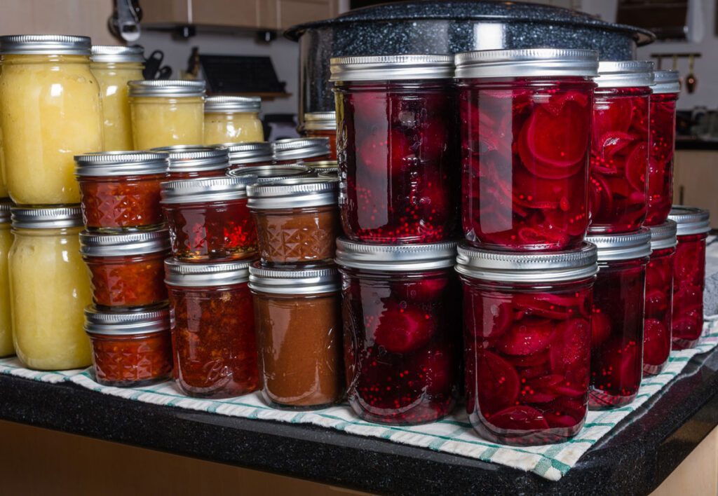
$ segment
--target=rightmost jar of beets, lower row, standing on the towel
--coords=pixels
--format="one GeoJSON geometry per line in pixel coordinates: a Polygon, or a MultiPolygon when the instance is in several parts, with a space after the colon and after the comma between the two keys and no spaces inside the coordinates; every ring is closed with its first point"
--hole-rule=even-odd
{"type": "Polygon", "coordinates": [[[673,205],[668,218],[678,224],[673,257],[673,350],[692,348],[703,332],[708,210],[673,205]]]}

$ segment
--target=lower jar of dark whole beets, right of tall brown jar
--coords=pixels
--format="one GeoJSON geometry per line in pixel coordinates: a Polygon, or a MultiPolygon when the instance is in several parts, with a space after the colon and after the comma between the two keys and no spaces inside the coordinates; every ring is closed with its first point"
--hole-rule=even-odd
{"type": "Polygon", "coordinates": [[[423,424],[459,393],[461,312],[456,243],[337,240],[347,397],[361,418],[423,424]]]}

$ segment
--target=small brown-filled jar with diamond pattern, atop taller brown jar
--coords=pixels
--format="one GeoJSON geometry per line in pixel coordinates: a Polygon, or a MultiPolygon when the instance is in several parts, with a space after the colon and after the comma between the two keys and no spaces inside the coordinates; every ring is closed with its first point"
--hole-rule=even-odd
{"type": "Polygon", "coordinates": [[[302,177],[247,187],[265,263],[317,263],[334,258],[340,235],[337,179],[302,177]]]}

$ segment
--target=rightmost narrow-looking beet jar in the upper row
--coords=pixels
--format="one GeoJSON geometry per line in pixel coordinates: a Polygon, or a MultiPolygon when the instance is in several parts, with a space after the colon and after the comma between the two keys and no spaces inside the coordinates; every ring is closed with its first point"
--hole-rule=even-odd
{"type": "Polygon", "coordinates": [[[645,225],[666,222],[673,203],[673,154],[676,151],[676,100],[681,85],[676,70],[653,72],[651,139],[648,142],[648,212],[645,225]]]}

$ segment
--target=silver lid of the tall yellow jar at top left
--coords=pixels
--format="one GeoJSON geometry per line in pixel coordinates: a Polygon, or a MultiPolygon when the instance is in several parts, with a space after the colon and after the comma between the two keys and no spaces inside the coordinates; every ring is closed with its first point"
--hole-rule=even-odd
{"type": "Polygon", "coordinates": [[[0,37],[1,55],[90,55],[86,36],[65,34],[14,34],[0,37]]]}

